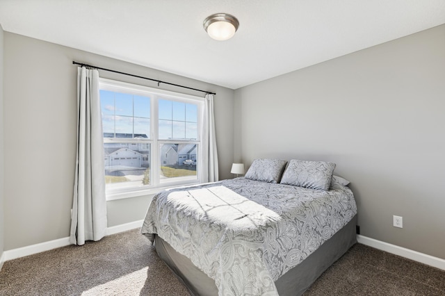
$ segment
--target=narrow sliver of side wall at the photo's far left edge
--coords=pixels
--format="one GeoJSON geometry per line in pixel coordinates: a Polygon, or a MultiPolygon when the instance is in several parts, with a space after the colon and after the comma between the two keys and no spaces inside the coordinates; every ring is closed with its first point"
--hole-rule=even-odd
{"type": "Polygon", "coordinates": [[[4,249],[4,175],[3,175],[3,28],[0,24],[0,258],[4,249]]]}

